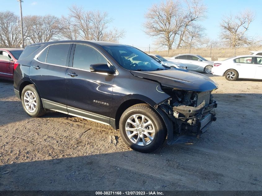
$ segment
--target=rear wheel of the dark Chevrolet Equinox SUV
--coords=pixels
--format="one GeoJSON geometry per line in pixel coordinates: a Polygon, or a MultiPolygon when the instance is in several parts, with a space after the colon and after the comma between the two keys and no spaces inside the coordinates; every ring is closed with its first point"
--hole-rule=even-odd
{"type": "Polygon", "coordinates": [[[39,117],[45,114],[42,99],[34,85],[27,85],[22,90],[21,101],[24,111],[31,117],[39,117]]]}

